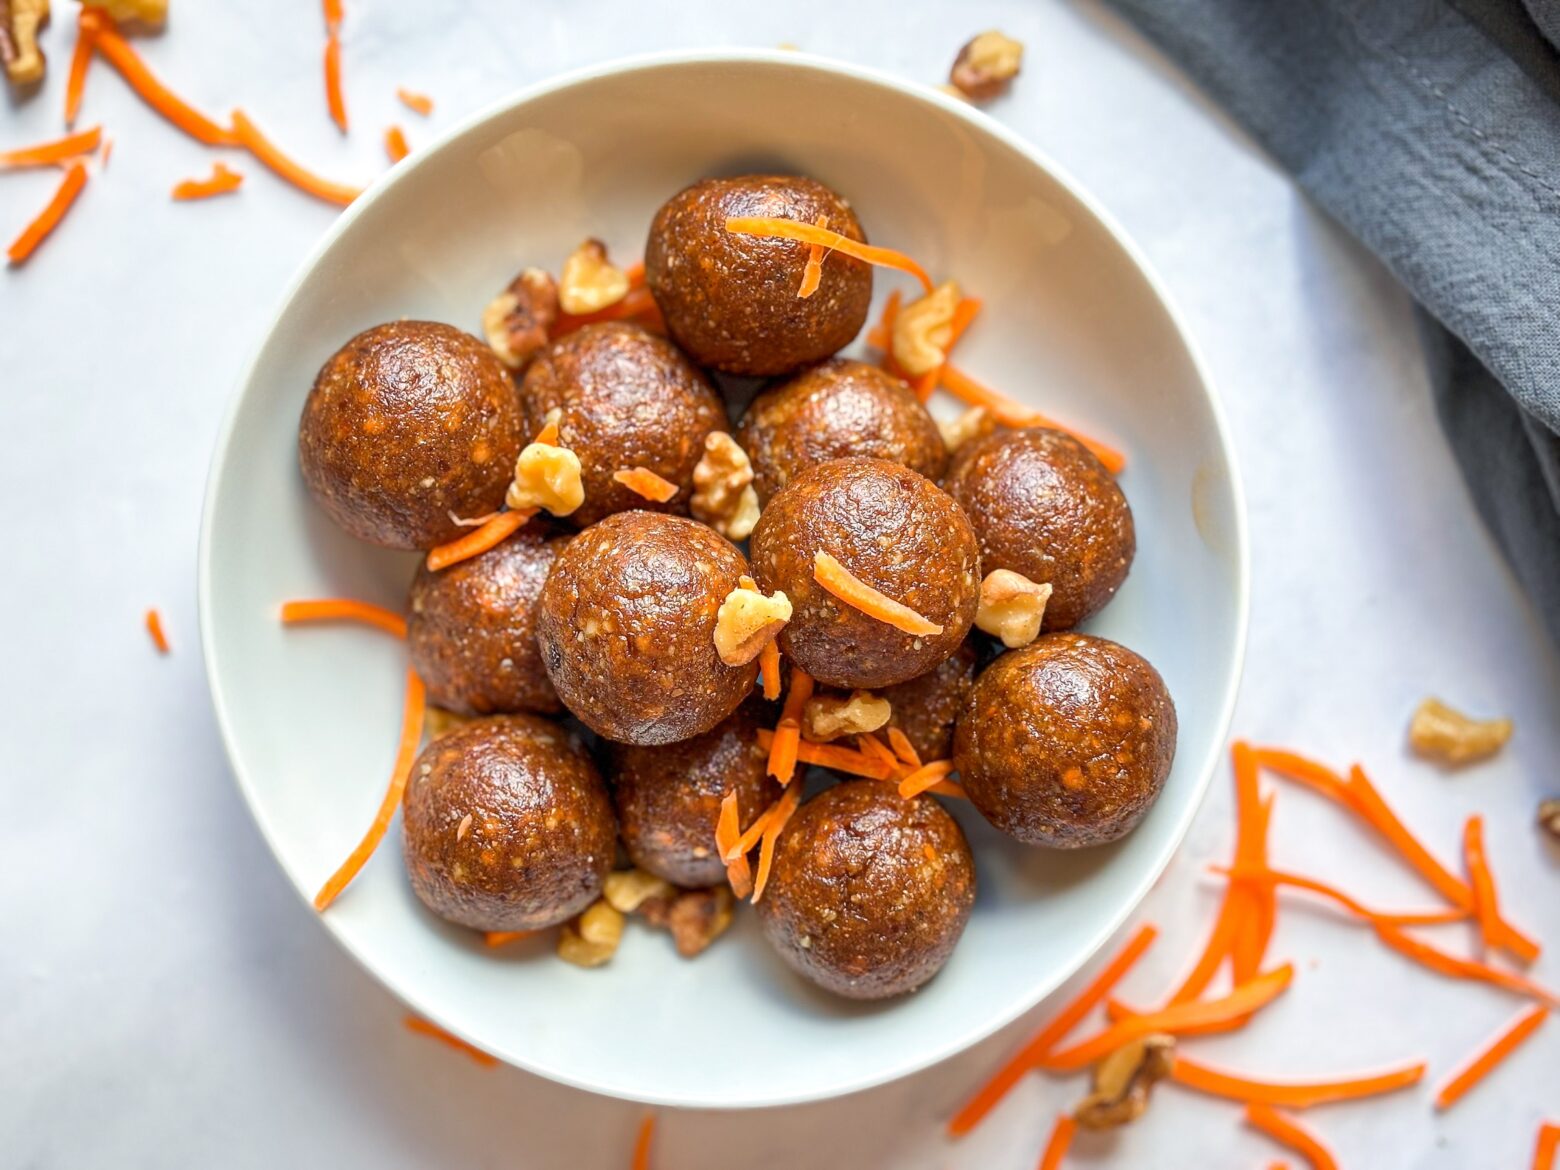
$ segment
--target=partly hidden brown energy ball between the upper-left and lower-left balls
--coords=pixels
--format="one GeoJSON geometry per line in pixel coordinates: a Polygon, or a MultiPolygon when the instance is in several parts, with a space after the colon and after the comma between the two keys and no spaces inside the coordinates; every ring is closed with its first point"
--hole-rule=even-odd
{"type": "Polygon", "coordinates": [[[563,710],[537,646],[537,604],[568,543],[534,521],[448,569],[418,566],[406,638],[431,704],[457,714],[563,710]]]}

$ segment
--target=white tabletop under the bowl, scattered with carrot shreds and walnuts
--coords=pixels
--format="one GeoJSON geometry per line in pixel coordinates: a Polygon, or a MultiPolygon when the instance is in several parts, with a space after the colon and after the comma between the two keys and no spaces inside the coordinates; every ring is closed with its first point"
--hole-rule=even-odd
{"type": "MultiPolygon", "coordinates": [[[[378,170],[392,119],[417,145],[518,84],[630,51],[796,42],[938,81],[975,30],[1023,39],[1028,73],[992,114],[1044,142],[1139,239],[1223,388],[1254,538],[1237,732],[1362,758],[1448,860],[1462,817],[1482,810],[1513,914],[1560,939],[1560,858],[1532,828],[1538,797],[1560,789],[1560,669],[1437,431],[1410,306],[1114,17],[1025,0],[761,11],[349,0],[356,129],[342,142],[323,114],[317,5],[173,8],[175,28],[145,44],[168,81],[215,112],[242,101],[343,178],[378,170]],[[396,84],[434,94],[434,119],[401,111],[396,84]],[[1513,714],[1510,749],[1454,777],[1407,760],[1404,719],[1426,691],[1513,714]]],[[[47,41],[48,89],[0,120],[5,145],[58,133],[66,23],[47,41]]],[[[197,647],[200,491],[239,365],[334,212],[254,167],[237,198],[175,206],[167,189],[204,173],[209,156],[108,70],[89,84],[86,122],[97,120],[117,140],[112,167],[30,267],[0,275],[0,490],[14,562],[0,636],[12,744],[0,786],[0,1162],[626,1165],[636,1106],[484,1070],[402,1031],[399,1006],[310,922],[253,830],[197,647]],[[170,626],[165,660],[140,629],[153,604],[170,626]]],[[[0,176],[0,236],[51,184],[0,176]]],[[[1129,994],[1156,994],[1200,945],[1215,900],[1200,874],[1229,836],[1220,778],[1143,908],[1165,939],[1129,994]]],[[[1379,903],[1424,902],[1307,794],[1281,791],[1275,852],[1379,903]]],[[[1516,1008],[1409,967],[1310,908],[1284,914],[1273,955],[1296,961],[1295,987],[1259,1025],[1200,1053],[1296,1076],[1423,1056],[1435,1080],[1516,1008]]],[[[1540,973],[1560,983],[1560,963],[1546,956],[1540,973]]],[[[1033,1165],[1075,1086],[1025,1083],[956,1147],[941,1123],[1034,1019],[860,1097],[668,1115],[657,1165],[727,1165],[735,1150],[753,1167],[1033,1165]]],[[[1526,1165],[1540,1117],[1560,1115],[1555,1028],[1446,1117],[1421,1089],[1309,1120],[1345,1165],[1526,1165]]],[[[739,1031],[733,1022],[738,1059],[761,1061],[741,1051],[739,1031]]],[[[1262,1165],[1275,1154],[1232,1106],[1170,1090],[1129,1131],[1081,1140],[1069,1164],[1262,1165]]]]}

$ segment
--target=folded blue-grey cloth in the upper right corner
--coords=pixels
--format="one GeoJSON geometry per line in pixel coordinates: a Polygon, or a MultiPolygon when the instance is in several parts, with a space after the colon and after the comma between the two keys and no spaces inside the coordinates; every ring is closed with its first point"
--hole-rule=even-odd
{"type": "Polygon", "coordinates": [[[1560,0],[1106,0],[1424,309],[1441,429],[1560,643],[1560,0]]]}

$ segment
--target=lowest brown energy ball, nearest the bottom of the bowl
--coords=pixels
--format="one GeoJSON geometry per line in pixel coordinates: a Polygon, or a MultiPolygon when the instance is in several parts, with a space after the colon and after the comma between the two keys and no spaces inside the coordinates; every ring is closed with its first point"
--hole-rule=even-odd
{"type": "Polygon", "coordinates": [[[973,905],[975,860],[942,805],[849,780],[803,803],[780,833],[758,920],[799,975],[880,1000],[941,970],[973,905]]]}

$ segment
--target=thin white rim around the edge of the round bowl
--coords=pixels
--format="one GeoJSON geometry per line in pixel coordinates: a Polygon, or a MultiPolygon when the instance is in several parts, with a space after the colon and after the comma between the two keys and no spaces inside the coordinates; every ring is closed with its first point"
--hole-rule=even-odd
{"type": "MultiPolygon", "coordinates": [[[[1215,713],[1215,732],[1214,746],[1209,749],[1206,757],[1197,761],[1197,778],[1190,799],[1181,810],[1179,821],[1173,827],[1172,833],[1165,838],[1165,846],[1162,847],[1159,856],[1154,858],[1153,864],[1143,872],[1142,880],[1137,888],[1131,892],[1128,899],[1123,899],[1120,908],[1111,914],[1108,919],[1101,920],[1098,928],[1094,931],[1090,939],[1080,948],[1075,961],[1062,964],[1058,973],[1050,975],[1044,980],[1037,980],[1034,987],[1023,997],[1019,997],[1012,1003],[1006,1005],[1002,1011],[994,1012],[984,1020],[980,1020],[972,1028],[967,1028],[956,1037],[944,1042],[938,1047],[927,1048],[917,1053],[913,1059],[902,1061],[899,1065],[872,1072],[867,1075],[856,1076],[853,1080],[844,1080],[839,1083],[824,1084],[817,1089],[808,1089],[803,1092],[789,1092],[775,1097],[764,1097],[757,1100],[741,1100],[741,1101],[725,1101],[725,1100],[710,1100],[710,1098],[693,1098],[679,1095],[657,1095],[655,1092],[633,1094],[612,1083],[591,1081],[558,1069],[548,1067],[540,1062],[534,1062],[524,1056],[524,1053],[498,1051],[495,1053],[507,1064],[518,1069],[524,1069],[529,1073],[543,1076],[549,1081],[558,1084],[566,1084],[574,1089],[582,1089],[585,1092],[619,1098],[632,1100],[643,1104],[666,1106],[666,1108],[688,1108],[688,1109],[768,1109],[792,1104],[807,1104],[813,1101],[833,1100],[836,1097],[846,1097],[850,1094],[864,1092],[867,1089],[875,1089],[883,1084],[902,1080],[913,1073],[930,1069],[931,1065],[941,1064],[942,1061],[956,1056],[958,1053],[972,1048],[981,1041],[994,1036],[1002,1028],[1017,1020],[1020,1016],[1034,1009],[1045,998],[1053,995],[1067,980],[1073,978],[1081,972],[1111,941],[1111,938],[1122,928],[1122,925],[1139,909],[1143,899],[1153,889],[1154,883],[1161,878],[1165,867],[1170,864],[1172,858],[1181,849],[1187,831],[1190,830],[1192,819],[1197,816],[1207,796],[1209,785],[1212,783],[1214,772],[1217,771],[1218,760],[1223,757],[1223,744],[1228,739],[1229,727],[1234,718],[1236,699],[1240,691],[1240,680],[1245,669],[1246,657],[1246,641],[1248,641],[1248,626],[1250,626],[1250,593],[1251,593],[1251,548],[1248,534],[1248,516],[1246,516],[1246,498],[1242,487],[1240,466],[1236,460],[1236,448],[1231,438],[1229,421],[1225,415],[1223,402],[1209,374],[1207,362],[1203,357],[1195,337],[1186,326],[1186,318],[1181,309],[1176,306],[1175,298],[1170,295],[1164,279],[1150,264],[1148,257],[1133,240],[1131,236],[1122,228],[1115,217],[1094,197],[1089,190],[1076,179],[1073,175],[1058,164],[1047,151],[1041,147],[1028,142],[1025,137],[1002,125],[995,119],[989,117],[983,111],[961,101],[947,94],[939,92],[936,87],[894,75],[888,70],[858,66],[853,62],[836,61],[833,58],[825,58],[813,53],[785,50],[785,48],[743,48],[743,47],[714,47],[714,48],[674,48],[660,50],[652,53],[636,53],[630,56],[613,58],[591,66],[583,66],[563,73],[557,73],[543,81],[524,86],[513,90],[512,94],[498,98],[487,106],[482,106],[476,112],[459,120],[443,134],[440,134],[432,144],[423,150],[413,153],[404,162],[396,164],[381,175],[373,184],[370,184],[362,195],[359,195],[351,206],[348,206],[324,231],[314,248],[304,256],[303,262],[295,268],[292,279],[284,287],[282,293],[275,303],[270,318],[265,321],[264,328],[259,331],[257,340],[254,342],[248,359],[239,374],[234,390],[231,392],[229,402],[226,406],[222,426],[217,432],[215,445],[212,448],[211,465],[206,476],[206,488],[201,502],[201,523],[200,523],[200,544],[197,551],[197,608],[200,616],[200,638],[201,638],[201,661],[206,671],[206,690],[211,696],[212,708],[217,716],[217,729],[222,736],[223,752],[228,758],[228,766],[232,771],[234,780],[239,786],[239,792],[243,797],[245,807],[250,813],[251,821],[261,833],[265,847],[271,852],[273,860],[289,877],[289,885],[292,885],[293,892],[298,899],[309,908],[309,917],[314,919],[334,941],[340,945],[357,964],[368,973],[379,986],[385,987],[392,995],[395,995],[407,1008],[415,1009],[418,1014],[437,1023],[440,1028],[446,1028],[460,1039],[482,1047],[482,1041],[476,1036],[463,1033],[459,1028],[451,1026],[448,1020],[440,1019],[437,1011],[429,1011],[424,1005],[413,1000],[406,994],[398,984],[396,978],[390,972],[379,970],[371,964],[337,928],[334,928],[326,916],[314,913],[309,892],[298,885],[296,880],[287,872],[287,866],[281,864],[281,850],[278,842],[273,839],[265,819],[259,814],[259,794],[254,782],[245,774],[243,768],[239,764],[239,757],[236,750],[236,736],[232,730],[232,718],[228,710],[225,693],[217,682],[215,671],[215,604],[212,593],[212,541],[215,535],[215,499],[218,495],[220,484],[223,480],[229,452],[232,451],[232,438],[237,429],[239,415],[242,413],[243,402],[250,395],[250,388],[254,381],[256,368],[264,357],[268,346],[270,337],[276,329],[278,321],[287,310],[287,306],[298,295],[298,290],[310,278],[314,270],[318,267],[321,257],[335,245],[335,242],[356,223],[357,217],[365,214],[367,209],[385,192],[392,190],[398,183],[401,183],[413,170],[431,164],[438,154],[449,148],[456,140],[476,133],[480,126],[488,122],[510,114],[512,111],[526,106],[538,98],[548,97],[551,94],[569,89],[573,86],[596,81],[605,76],[619,73],[633,73],[657,69],[675,69],[682,66],[704,66],[704,64],[761,64],[761,66],[780,66],[796,69],[797,72],[822,72],[846,76],[852,81],[866,83],[877,86],[880,89],[892,90],[894,94],[909,98],[911,101],[922,101],[961,119],[969,125],[970,129],[991,136],[997,139],[1002,145],[1016,151],[1017,154],[1028,159],[1034,167],[1045,172],[1055,183],[1062,186],[1072,198],[1075,198],[1111,236],[1115,245],[1123,251],[1123,254],[1131,261],[1134,268],[1140,273],[1142,279],[1147,282],[1150,292],[1159,301],[1165,315],[1170,318],[1170,324],[1175,328],[1176,335],[1186,346],[1187,356],[1192,362],[1192,368],[1203,387],[1203,395],[1207,399],[1209,413],[1214,420],[1214,432],[1218,440],[1218,449],[1229,470],[1229,498],[1232,507],[1234,521],[1234,549],[1232,560],[1236,568],[1234,582],[1234,605],[1236,605],[1236,638],[1231,651],[1229,671],[1225,679],[1223,694],[1217,704],[1215,713]]],[[[488,1048],[484,1048],[488,1051],[488,1048]]]]}

